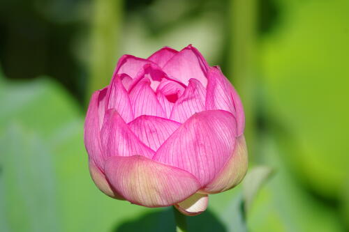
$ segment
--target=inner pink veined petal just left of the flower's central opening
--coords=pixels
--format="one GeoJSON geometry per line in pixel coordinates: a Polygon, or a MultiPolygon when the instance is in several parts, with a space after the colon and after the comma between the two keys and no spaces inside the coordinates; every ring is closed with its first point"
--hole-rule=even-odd
{"type": "Polygon", "coordinates": [[[130,92],[131,105],[135,118],[141,115],[166,117],[156,95],[150,87],[149,79],[142,79],[130,92]]]}

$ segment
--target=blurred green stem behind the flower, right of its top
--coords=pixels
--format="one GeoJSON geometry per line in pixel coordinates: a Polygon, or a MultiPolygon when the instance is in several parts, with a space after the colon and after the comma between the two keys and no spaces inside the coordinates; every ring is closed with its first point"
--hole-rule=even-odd
{"type": "Polygon", "coordinates": [[[255,160],[255,102],[258,86],[256,75],[256,34],[258,1],[230,0],[230,70],[232,84],[242,98],[246,116],[245,137],[248,143],[248,160],[255,160]]]}

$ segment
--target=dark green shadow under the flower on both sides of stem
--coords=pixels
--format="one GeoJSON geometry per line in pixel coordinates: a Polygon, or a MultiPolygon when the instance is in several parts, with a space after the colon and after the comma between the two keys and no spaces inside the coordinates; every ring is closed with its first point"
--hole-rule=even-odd
{"type": "MultiPolygon", "coordinates": [[[[225,226],[217,219],[217,217],[206,210],[201,215],[186,217],[188,223],[188,231],[216,231],[225,232],[225,226]]],[[[175,231],[174,214],[172,208],[166,210],[150,212],[138,217],[135,220],[126,221],[116,226],[114,232],[128,231],[175,231]]]]}

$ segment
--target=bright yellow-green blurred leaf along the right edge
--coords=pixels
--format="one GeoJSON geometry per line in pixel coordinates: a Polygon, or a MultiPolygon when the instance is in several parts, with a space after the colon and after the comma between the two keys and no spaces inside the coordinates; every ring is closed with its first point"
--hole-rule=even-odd
{"type": "Polygon", "coordinates": [[[349,2],[279,4],[282,23],[260,53],[269,123],[304,183],[336,198],[349,170],[349,2]]]}

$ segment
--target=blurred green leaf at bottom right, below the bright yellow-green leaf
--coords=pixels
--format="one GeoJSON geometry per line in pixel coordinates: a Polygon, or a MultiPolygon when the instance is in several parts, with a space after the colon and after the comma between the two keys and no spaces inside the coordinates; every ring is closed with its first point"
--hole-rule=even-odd
{"type": "Polygon", "coordinates": [[[274,138],[265,136],[262,144],[264,162],[273,167],[274,174],[248,211],[249,231],[343,231],[336,210],[314,199],[295,180],[274,138]]]}

